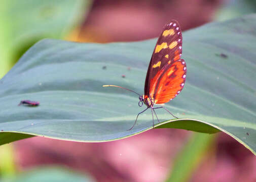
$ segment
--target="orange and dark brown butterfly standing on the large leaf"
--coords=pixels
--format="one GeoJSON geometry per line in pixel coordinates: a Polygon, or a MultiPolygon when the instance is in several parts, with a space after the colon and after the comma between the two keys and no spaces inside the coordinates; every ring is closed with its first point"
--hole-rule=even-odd
{"type": "MultiPolygon", "coordinates": [[[[128,130],[131,130],[138,119],[138,116],[151,109],[154,127],[154,114],[157,114],[155,109],[163,108],[168,113],[174,116],[164,106],[153,107],[154,104],[164,104],[175,98],[184,87],[187,74],[186,62],[181,59],[182,54],[182,34],[180,26],[176,20],[171,20],[163,28],[160,37],[157,40],[154,52],[151,57],[147,76],[145,78],[144,94],[140,95],[131,89],[117,85],[102,85],[120,87],[130,92],[139,95],[139,107],[143,103],[147,106],[146,109],[137,114],[134,124],[128,130]]],[[[159,119],[157,117],[159,122],[159,119]]]]}

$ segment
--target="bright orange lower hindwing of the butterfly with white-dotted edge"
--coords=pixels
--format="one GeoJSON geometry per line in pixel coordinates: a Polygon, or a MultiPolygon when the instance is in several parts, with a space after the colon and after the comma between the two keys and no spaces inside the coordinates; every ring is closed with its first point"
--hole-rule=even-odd
{"type": "Polygon", "coordinates": [[[184,87],[187,66],[183,59],[166,64],[152,79],[150,97],[155,104],[163,104],[175,98],[184,87]]]}

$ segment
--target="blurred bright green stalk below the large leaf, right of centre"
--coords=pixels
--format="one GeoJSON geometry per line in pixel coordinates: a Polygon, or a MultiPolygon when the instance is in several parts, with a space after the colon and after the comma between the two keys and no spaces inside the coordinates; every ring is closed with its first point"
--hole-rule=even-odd
{"type": "Polygon", "coordinates": [[[194,133],[188,144],[177,155],[170,176],[166,181],[185,182],[197,170],[203,156],[209,150],[215,135],[194,133]]]}

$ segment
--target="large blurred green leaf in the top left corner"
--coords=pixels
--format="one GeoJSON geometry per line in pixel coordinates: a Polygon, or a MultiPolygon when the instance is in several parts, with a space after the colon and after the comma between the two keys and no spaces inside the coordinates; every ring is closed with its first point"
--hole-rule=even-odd
{"type": "Polygon", "coordinates": [[[1,1],[0,77],[32,44],[45,38],[63,38],[74,29],[91,1],[1,1]]]}

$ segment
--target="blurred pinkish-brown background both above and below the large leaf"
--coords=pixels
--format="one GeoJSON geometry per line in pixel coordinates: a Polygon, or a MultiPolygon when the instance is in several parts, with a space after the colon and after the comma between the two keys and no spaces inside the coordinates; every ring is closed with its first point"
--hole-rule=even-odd
{"type": "MultiPolygon", "coordinates": [[[[171,19],[182,31],[213,20],[224,0],[97,0],[81,27],[66,38],[81,42],[134,41],[159,36],[171,19]]],[[[136,113],[134,113],[135,117],[136,113]]],[[[115,142],[77,143],[34,137],[15,142],[20,170],[63,164],[97,181],[164,181],[192,132],[152,129],[115,142]]],[[[191,181],[256,181],[256,158],[230,136],[217,134],[191,181]]]]}

